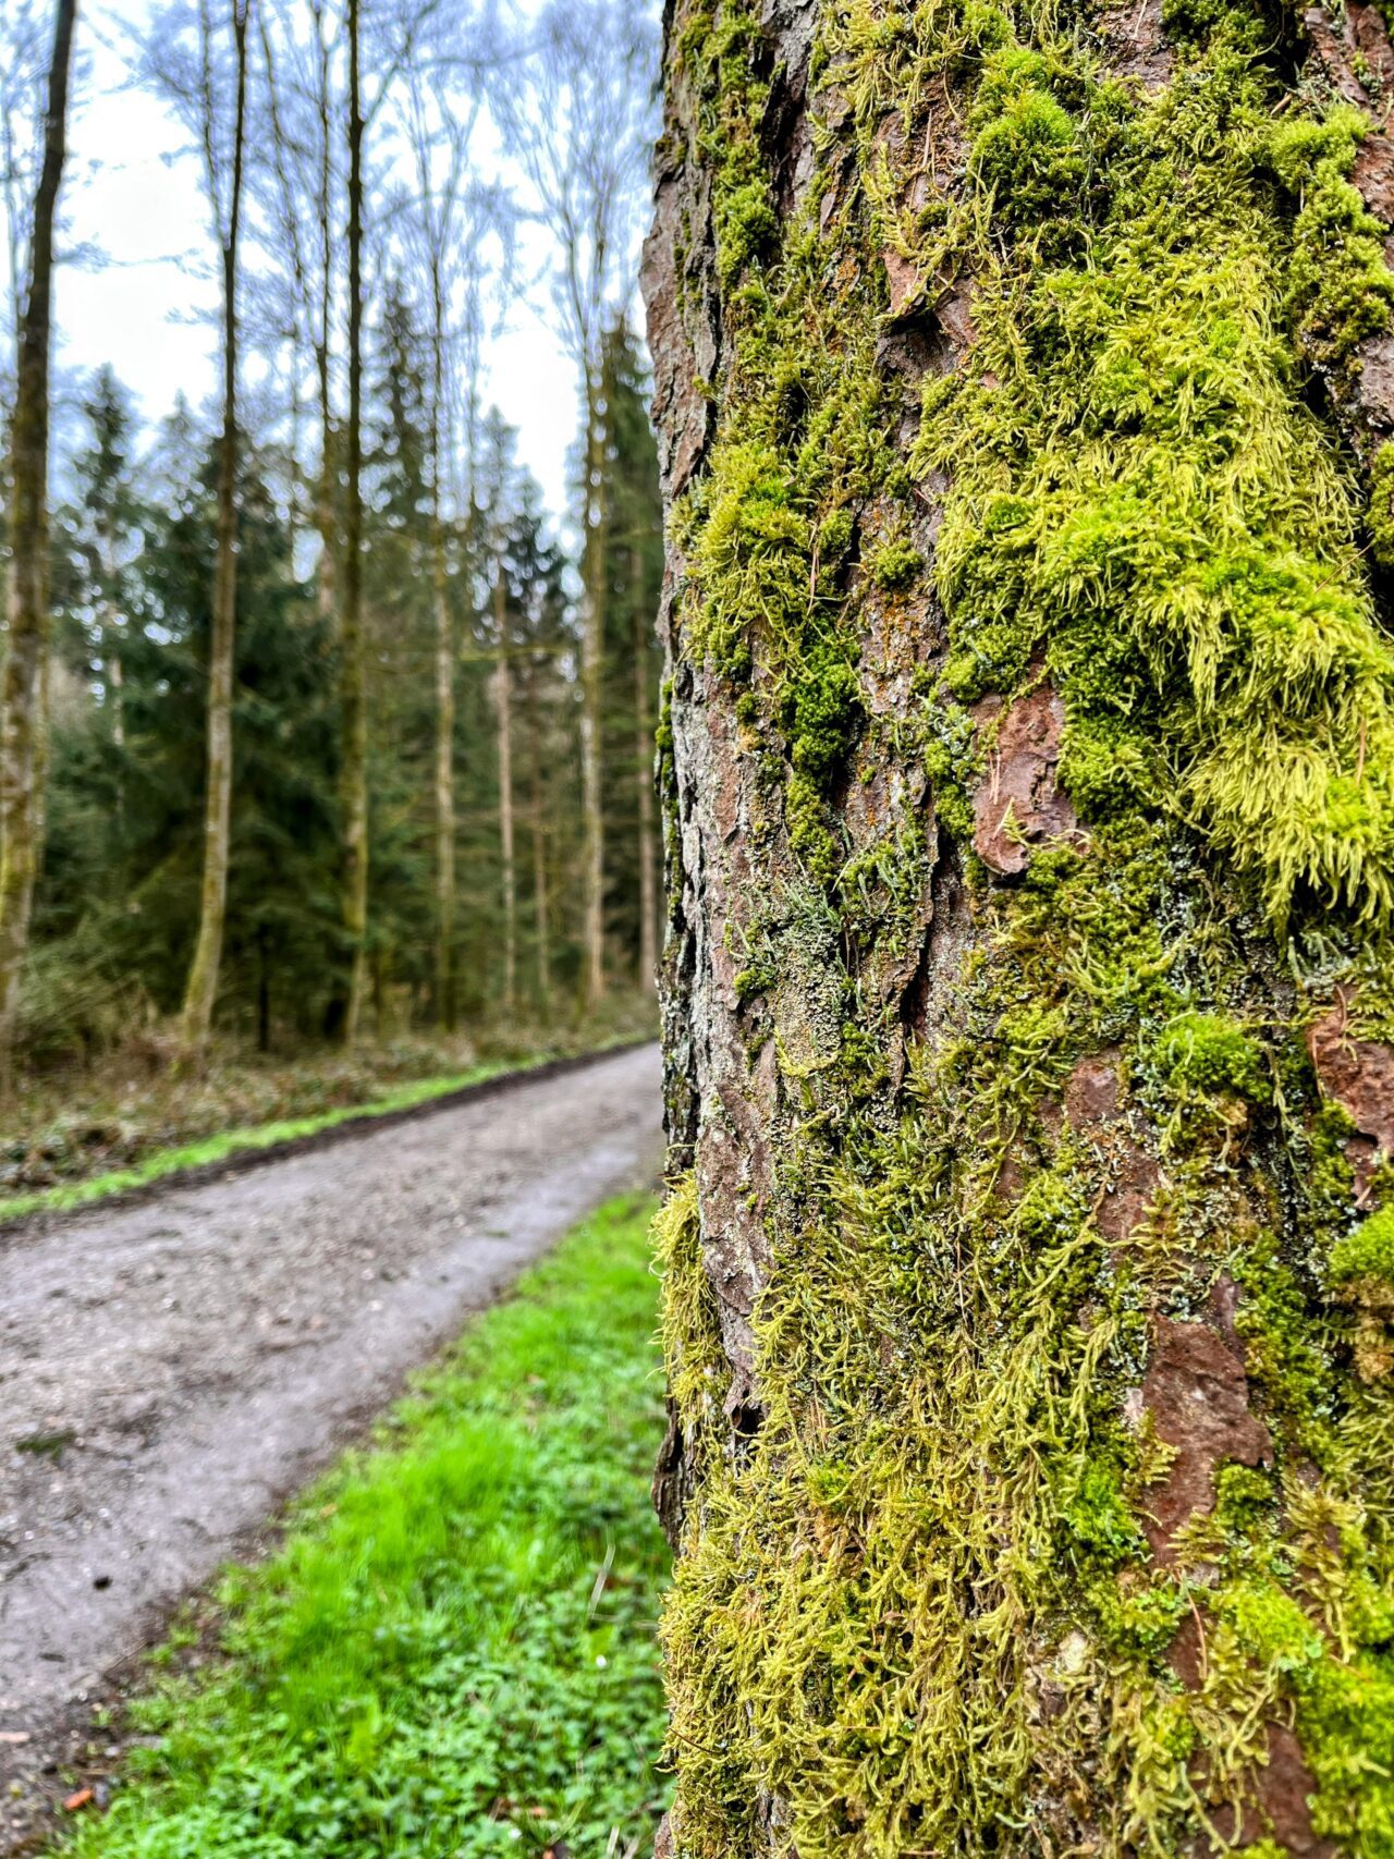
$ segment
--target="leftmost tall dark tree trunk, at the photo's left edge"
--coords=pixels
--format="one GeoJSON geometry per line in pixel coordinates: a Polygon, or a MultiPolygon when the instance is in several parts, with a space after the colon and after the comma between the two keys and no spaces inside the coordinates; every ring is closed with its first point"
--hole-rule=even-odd
{"type": "Polygon", "coordinates": [[[15,1078],[15,1015],[30,944],[37,868],[43,716],[48,651],[48,346],[54,288],[54,214],[63,180],[69,67],[76,0],[58,0],[48,67],[43,167],[30,234],[30,292],[19,323],[9,455],[9,639],[0,721],[0,1097],[15,1078]]]}

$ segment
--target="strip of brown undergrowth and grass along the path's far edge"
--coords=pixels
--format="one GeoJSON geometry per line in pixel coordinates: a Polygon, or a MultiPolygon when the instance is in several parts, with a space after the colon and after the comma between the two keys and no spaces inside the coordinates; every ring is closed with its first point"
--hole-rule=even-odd
{"type": "Polygon", "coordinates": [[[130,1041],[87,1069],[20,1080],[0,1117],[0,1220],[85,1199],[80,1184],[112,1173],[154,1179],[201,1167],[364,1106],[405,1108],[515,1065],[656,1032],[651,995],[615,993],[589,1015],[558,1008],[548,1019],[524,1013],[454,1035],[403,1034],[351,1052],[264,1056],[223,1041],[201,1075],[178,1071],[154,1039],[130,1041]]]}

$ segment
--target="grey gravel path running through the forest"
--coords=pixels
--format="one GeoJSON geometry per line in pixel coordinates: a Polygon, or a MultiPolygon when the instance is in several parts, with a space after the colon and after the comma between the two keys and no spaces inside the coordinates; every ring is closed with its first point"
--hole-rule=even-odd
{"type": "Polygon", "coordinates": [[[0,1796],[409,1368],[656,1179],[660,1108],[641,1047],[0,1234],[0,1796]]]}

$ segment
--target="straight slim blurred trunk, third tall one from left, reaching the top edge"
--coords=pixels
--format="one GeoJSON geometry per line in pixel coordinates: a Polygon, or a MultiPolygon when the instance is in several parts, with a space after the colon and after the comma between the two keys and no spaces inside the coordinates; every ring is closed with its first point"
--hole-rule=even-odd
{"type": "Polygon", "coordinates": [[[359,0],[348,4],[349,48],[349,411],[344,494],[342,716],[344,716],[344,937],[349,996],[344,1041],[359,1037],[368,989],[368,690],[362,634],[362,91],[359,0]]]}

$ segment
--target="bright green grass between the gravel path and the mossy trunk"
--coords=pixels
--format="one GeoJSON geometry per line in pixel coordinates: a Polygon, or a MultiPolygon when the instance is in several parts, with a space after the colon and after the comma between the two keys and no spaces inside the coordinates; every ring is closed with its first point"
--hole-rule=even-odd
{"type": "Polygon", "coordinates": [[[647,1853],[665,1783],[652,1205],[602,1208],[232,1571],[82,1859],[647,1853]]]}

